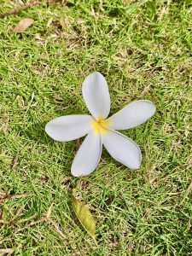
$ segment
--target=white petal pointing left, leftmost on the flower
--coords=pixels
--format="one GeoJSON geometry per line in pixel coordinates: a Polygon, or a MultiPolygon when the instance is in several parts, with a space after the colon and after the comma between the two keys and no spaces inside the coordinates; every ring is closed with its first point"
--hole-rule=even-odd
{"type": "Polygon", "coordinates": [[[92,117],[85,114],[73,114],[49,121],[45,131],[58,142],[67,142],[83,137],[91,130],[92,117]]]}

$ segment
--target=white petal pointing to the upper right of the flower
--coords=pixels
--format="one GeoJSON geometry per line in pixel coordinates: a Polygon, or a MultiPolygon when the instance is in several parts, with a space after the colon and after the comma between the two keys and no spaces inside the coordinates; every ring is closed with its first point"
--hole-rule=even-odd
{"type": "Polygon", "coordinates": [[[109,128],[125,130],[143,124],[155,112],[154,103],[149,101],[131,102],[119,112],[114,113],[110,120],[109,128]]]}

